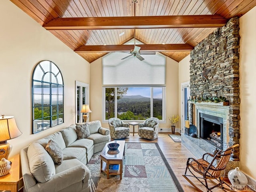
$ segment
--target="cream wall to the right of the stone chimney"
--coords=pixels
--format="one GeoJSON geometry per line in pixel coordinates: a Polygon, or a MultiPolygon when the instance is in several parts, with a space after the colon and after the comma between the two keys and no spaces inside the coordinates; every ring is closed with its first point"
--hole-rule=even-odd
{"type": "Polygon", "coordinates": [[[256,180],[256,7],[239,22],[240,169],[256,180]]]}

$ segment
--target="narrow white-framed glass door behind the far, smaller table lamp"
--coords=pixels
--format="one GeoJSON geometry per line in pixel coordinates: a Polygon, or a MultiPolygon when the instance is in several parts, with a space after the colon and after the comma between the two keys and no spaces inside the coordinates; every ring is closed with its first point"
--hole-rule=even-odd
{"type": "Polygon", "coordinates": [[[76,122],[83,122],[82,106],[89,103],[89,85],[76,81],[76,122]]]}

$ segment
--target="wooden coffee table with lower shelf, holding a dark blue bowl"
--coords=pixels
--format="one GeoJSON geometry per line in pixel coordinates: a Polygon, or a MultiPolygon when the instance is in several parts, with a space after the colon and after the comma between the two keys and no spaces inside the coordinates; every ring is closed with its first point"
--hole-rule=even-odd
{"type": "Polygon", "coordinates": [[[123,159],[124,159],[124,145],[125,141],[112,141],[106,143],[104,149],[100,153],[100,172],[104,172],[107,174],[107,179],[109,179],[109,175],[120,175],[120,179],[122,179],[123,172],[123,159]],[[111,151],[108,149],[109,143],[118,143],[118,150],[111,151]],[[110,164],[118,164],[118,171],[110,171],[110,164]]]}

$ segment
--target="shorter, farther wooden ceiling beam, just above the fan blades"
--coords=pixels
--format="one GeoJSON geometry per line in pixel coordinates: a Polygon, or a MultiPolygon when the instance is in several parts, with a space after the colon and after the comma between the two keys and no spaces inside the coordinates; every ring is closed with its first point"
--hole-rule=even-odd
{"type": "MultiPolygon", "coordinates": [[[[193,46],[189,44],[139,44],[141,51],[191,51],[193,46]]],[[[134,45],[83,45],[78,49],[74,50],[76,53],[86,53],[86,52],[129,52],[134,49],[134,45]]]]}

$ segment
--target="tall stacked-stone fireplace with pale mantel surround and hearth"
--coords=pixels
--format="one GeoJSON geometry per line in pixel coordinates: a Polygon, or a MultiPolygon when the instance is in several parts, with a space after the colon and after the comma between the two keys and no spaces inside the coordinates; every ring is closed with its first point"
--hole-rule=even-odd
{"type": "MultiPolygon", "coordinates": [[[[197,158],[239,144],[239,39],[239,20],[232,18],[190,53],[189,120],[197,138],[182,134],[182,144],[197,158]],[[213,97],[224,97],[228,105],[206,102],[213,97]]],[[[239,148],[230,158],[234,166],[239,166],[239,148]]]]}

